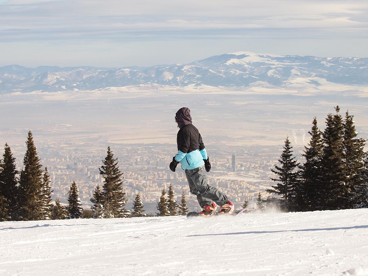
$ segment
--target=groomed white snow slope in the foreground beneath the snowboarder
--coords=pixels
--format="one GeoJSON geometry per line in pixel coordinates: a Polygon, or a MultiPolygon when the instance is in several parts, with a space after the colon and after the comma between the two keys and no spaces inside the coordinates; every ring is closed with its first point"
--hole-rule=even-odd
{"type": "Polygon", "coordinates": [[[0,223],[0,275],[368,275],[368,209],[0,223]]]}

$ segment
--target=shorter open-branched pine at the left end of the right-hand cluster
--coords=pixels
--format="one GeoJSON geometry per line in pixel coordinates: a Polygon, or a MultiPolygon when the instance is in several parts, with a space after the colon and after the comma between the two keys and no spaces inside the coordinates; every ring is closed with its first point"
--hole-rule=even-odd
{"type": "Polygon", "coordinates": [[[277,182],[273,189],[268,189],[266,192],[277,194],[281,197],[280,205],[283,209],[293,210],[295,206],[294,192],[298,184],[298,171],[296,168],[299,163],[293,156],[293,147],[290,145],[289,137],[286,137],[284,150],[279,159],[280,166],[275,165],[275,170],[271,171],[276,174],[277,178],[270,178],[277,182]]]}

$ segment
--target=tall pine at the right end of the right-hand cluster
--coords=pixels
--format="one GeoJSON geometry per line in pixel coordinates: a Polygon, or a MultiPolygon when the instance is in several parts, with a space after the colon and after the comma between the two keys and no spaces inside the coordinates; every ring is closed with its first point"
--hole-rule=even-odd
{"type": "Polygon", "coordinates": [[[362,171],[364,169],[365,139],[357,138],[354,116],[346,112],[344,120],[344,174],[346,187],[346,204],[344,208],[360,205],[361,186],[364,185],[362,171]]]}

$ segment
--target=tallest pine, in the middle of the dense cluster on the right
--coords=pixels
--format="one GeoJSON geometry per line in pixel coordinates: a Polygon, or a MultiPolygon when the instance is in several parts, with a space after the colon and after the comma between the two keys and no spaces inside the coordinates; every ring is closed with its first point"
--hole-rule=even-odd
{"type": "Polygon", "coordinates": [[[328,114],[326,128],[322,134],[323,154],[321,172],[323,187],[321,195],[321,209],[343,209],[348,201],[348,190],[345,185],[344,165],[344,125],[339,114],[340,107],[335,107],[336,114],[328,114]]]}

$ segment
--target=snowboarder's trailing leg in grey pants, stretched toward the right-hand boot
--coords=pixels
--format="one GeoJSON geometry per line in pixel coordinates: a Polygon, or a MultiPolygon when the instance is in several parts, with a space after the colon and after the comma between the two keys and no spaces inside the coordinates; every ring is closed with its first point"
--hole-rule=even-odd
{"type": "Polygon", "coordinates": [[[208,184],[204,166],[194,170],[185,170],[185,174],[187,174],[188,182],[193,183],[202,198],[214,201],[219,206],[226,204],[227,196],[208,184]]]}

